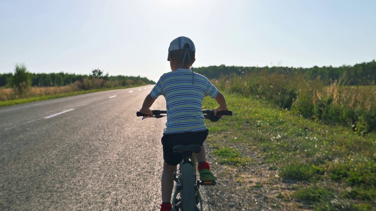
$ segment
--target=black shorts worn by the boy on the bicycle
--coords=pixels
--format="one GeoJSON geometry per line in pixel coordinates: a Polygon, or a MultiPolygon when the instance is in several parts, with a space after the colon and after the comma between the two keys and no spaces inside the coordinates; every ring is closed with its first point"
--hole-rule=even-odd
{"type": "Polygon", "coordinates": [[[197,132],[164,134],[162,137],[163,160],[170,166],[176,166],[183,160],[183,157],[180,154],[174,154],[172,148],[176,145],[197,144],[202,146],[208,134],[208,129],[197,132]]]}

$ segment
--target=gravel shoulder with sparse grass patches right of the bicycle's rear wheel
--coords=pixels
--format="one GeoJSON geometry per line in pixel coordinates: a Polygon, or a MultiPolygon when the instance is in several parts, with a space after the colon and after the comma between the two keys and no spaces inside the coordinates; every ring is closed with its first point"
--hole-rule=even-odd
{"type": "MultiPolygon", "coordinates": [[[[208,139],[211,138],[214,139],[208,139]]],[[[221,145],[230,144],[226,141],[215,142],[221,145]]],[[[215,150],[209,144],[206,149],[209,153],[215,150]]],[[[215,155],[208,157],[218,178],[217,185],[206,188],[211,208],[215,211],[308,211],[294,203],[291,198],[285,197],[296,190],[299,184],[279,179],[276,170],[270,165],[261,164],[261,158],[251,150],[248,156],[252,158],[252,164],[247,166],[220,164],[215,155]]]]}

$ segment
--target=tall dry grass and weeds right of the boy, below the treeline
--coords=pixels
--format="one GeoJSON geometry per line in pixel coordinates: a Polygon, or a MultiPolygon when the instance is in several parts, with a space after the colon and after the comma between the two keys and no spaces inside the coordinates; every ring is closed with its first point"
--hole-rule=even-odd
{"type": "Polygon", "coordinates": [[[267,72],[222,76],[213,83],[227,92],[254,96],[325,124],[352,127],[364,135],[376,130],[376,86],[344,86],[346,81],[310,80],[303,74],[267,72]]]}

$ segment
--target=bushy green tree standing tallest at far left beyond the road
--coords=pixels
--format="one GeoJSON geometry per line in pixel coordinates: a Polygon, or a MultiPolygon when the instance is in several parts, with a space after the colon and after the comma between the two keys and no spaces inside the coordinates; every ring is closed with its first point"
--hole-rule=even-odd
{"type": "Polygon", "coordinates": [[[25,65],[16,65],[14,75],[11,78],[11,85],[18,90],[18,92],[27,92],[31,84],[29,72],[25,65]]]}

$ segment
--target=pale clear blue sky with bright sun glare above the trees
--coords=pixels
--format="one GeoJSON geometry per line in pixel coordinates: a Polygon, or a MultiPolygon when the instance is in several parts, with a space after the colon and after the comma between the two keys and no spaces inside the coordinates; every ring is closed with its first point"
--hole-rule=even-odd
{"type": "Polygon", "coordinates": [[[376,59],[376,0],[0,0],[0,72],[170,71],[178,36],[193,67],[354,65],[376,59]]]}

